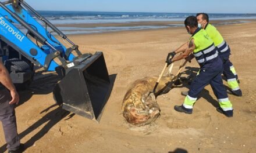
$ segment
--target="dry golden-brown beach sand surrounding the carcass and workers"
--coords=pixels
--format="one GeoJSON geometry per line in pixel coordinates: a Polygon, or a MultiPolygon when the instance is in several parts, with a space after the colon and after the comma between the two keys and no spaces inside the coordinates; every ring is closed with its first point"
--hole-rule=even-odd
{"type": "MultiPolygon", "coordinates": [[[[210,86],[200,94],[192,115],[173,110],[183,103],[183,88],[159,96],[161,116],[155,125],[129,126],[121,114],[131,82],[162,71],[168,52],[189,39],[184,28],[72,35],[84,53],[101,50],[115,84],[99,123],[58,108],[51,90],[56,74],[37,74],[29,91],[20,92],[18,132],[26,152],[256,152],[256,22],[218,26],[232,49],[243,97],[229,95],[233,118],[216,111],[210,86]]],[[[177,71],[175,63],[173,72],[177,71]]],[[[187,67],[197,69],[193,61],[187,67]]],[[[187,69],[186,69],[187,70],[187,69]]],[[[225,82],[226,84],[226,82],[225,82]]],[[[5,140],[0,129],[0,152],[5,140]]]]}

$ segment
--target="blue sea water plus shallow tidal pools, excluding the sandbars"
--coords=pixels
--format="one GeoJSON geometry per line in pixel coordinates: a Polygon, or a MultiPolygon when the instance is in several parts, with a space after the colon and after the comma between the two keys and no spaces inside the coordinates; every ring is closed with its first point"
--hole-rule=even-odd
{"type": "MultiPolygon", "coordinates": [[[[136,13],[136,12],[74,12],[74,11],[38,11],[53,24],[73,24],[72,27],[58,27],[65,34],[91,34],[99,32],[113,32],[124,30],[145,30],[168,27],[183,27],[183,24],[169,25],[131,25],[125,27],[76,27],[76,24],[101,23],[132,23],[140,21],[184,21],[186,17],[195,13],[136,13]]],[[[35,18],[35,17],[34,17],[35,18]]],[[[210,20],[225,20],[219,24],[235,24],[247,21],[228,21],[234,19],[256,19],[256,14],[211,14],[210,20]]],[[[70,25],[69,25],[70,26],[70,25]]]]}

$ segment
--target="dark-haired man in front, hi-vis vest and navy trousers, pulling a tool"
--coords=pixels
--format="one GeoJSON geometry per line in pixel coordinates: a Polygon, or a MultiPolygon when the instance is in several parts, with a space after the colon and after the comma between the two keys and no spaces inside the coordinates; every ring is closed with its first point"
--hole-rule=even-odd
{"type": "Polygon", "coordinates": [[[179,55],[177,54],[175,56],[175,53],[173,52],[168,53],[166,62],[170,64],[181,59],[190,60],[194,56],[200,65],[200,72],[191,83],[189,93],[186,96],[184,103],[182,105],[175,105],[175,110],[186,114],[192,114],[193,105],[197,100],[198,94],[205,86],[210,84],[219,101],[217,111],[227,117],[232,117],[232,103],[227,97],[227,92],[223,86],[221,77],[223,72],[223,62],[218,55],[217,48],[214,46],[214,41],[212,41],[205,30],[198,28],[198,22],[195,16],[187,17],[184,24],[189,34],[192,35],[189,40],[189,46],[179,55]]]}

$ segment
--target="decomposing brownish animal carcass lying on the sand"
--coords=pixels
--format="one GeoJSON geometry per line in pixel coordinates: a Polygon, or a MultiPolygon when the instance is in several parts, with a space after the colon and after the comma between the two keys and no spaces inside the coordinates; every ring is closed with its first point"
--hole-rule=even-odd
{"type": "Polygon", "coordinates": [[[155,86],[158,77],[145,77],[135,81],[125,94],[122,112],[126,121],[132,125],[142,126],[155,121],[159,116],[159,105],[155,96],[170,90],[168,83],[172,77],[162,77],[155,94],[148,95],[155,86]]]}

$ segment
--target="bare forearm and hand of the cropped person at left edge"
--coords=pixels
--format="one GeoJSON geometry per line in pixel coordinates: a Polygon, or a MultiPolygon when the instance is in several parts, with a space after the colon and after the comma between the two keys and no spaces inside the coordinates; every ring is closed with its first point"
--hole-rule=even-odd
{"type": "Polygon", "coordinates": [[[12,96],[12,100],[10,100],[9,104],[18,104],[19,94],[17,93],[15,86],[10,79],[9,72],[6,70],[5,65],[3,65],[2,61],[0,61],[0,82],[8,90],[10,90],[10,96],[12,96]]]}

